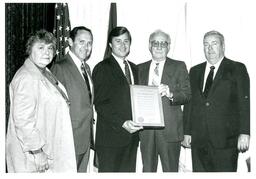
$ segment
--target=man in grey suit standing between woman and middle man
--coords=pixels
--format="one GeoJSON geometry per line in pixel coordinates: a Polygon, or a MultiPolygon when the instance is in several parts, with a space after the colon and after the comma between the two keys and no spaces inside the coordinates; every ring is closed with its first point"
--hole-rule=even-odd
{"type": "Polygon", "coordinates": [[[77,171],[86,172],[93,121],[93,84],[90,67],[86,63],[92,51],[92,32],[83,26],[75,27],[70,32],[68,42],[70,51],[51,70],[67,90],[71,103],[77,171]]]}

